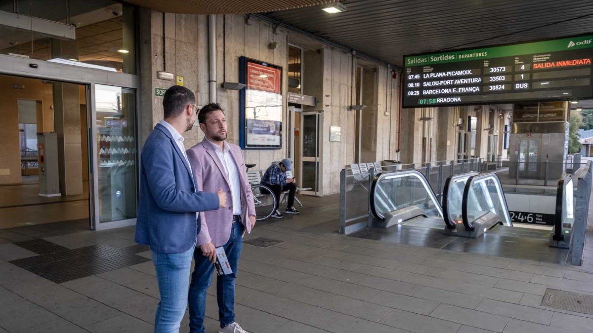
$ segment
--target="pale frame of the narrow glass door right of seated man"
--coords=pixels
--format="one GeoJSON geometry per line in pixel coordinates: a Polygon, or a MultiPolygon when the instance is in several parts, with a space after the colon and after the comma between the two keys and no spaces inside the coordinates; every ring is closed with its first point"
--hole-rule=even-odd
{"type": "MultiPolygon", "coordinates": [[[[299,163],[301,165],[299,165],[299,180],[302,181],[302,162],[315,162],[317,165],[317,168],[315,168],[315,183],[317,184],[317,191],[315,191],[315,188],[308,190],[308,191],[301,191],[301,194],[307,194],[310,196],[323,196],[323,172],[321,172],[323,170],[323,159],[321,158],[323,156],[323,111],[304,111],[301,112],[300,114],[301,117],[301,124],[299,126],[299,143],[301,146],[301,149],[299,151],[299,163]],[[302,139],[304,137],[304,131],[303,131],[303,126],[304,126],[304,121],[302,119],[303,116],[312,116],[315,115],[315,119],[317,120],[316,124],[317,124],[317,140],[315,141],[315,145],[316,145],[316,149],[315,151],[317,151],[317,156],[315,157],[305,157],[302,156],[302,152],[304,151],[303,149],[303,145],[302,145],[302,139]]],[[[302,184],[302,182],[301,182],[302,184]]]]}

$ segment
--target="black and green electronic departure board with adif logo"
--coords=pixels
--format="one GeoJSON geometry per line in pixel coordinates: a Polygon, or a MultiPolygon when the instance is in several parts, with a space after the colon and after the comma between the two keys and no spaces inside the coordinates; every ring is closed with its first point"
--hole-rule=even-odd
{"type": "Polygon", "coordinates": [[[593,35],[404,56],[402,107],[593,97],[593,35]]]}

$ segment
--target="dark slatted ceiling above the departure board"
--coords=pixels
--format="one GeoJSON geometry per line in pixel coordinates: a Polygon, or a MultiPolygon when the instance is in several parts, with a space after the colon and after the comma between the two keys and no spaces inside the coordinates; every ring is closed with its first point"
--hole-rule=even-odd
{"type": "Polygon", "coordinates": [[[266,16],[400,67],[403,56],[413,53],[593,32],[591,0],[342,3],[346,11],[338,14],[327,14],[317,6],[268,12],[266,16]]]}

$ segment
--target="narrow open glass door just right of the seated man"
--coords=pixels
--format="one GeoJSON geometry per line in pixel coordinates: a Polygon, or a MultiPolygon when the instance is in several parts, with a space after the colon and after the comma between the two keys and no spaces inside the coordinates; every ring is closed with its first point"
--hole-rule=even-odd
{"type": "Polygon", "coordinates": [[[301,156],[300,172],[302,187],[311,190],[301,191],[302,194],[321,194],[321,138],[323,137],[323,112],[311,111],[301,113],[301,156]]]}

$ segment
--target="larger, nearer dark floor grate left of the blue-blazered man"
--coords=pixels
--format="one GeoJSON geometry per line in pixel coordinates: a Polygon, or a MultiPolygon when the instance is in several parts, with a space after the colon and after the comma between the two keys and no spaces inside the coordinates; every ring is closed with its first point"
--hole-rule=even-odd
{"type": "MultiPolygon", "coordinates": [[[[43,239],[41,240],[43,241],[43,239]]],[[[50,242],[47,243],[56,245],[50,242]]],[[[46,247],[51,248],[51,246],[46,247]]],[[[62,246],[59,247],[62,248],[62,246]]],[[[150,261],[148,258],[132,253],[142,252],[143,249],[145,248],[135,245],[122,249],[115,249],[105,245],[92,245],[78,249],[63,248],[59,252],[50,252],[10,262],[40,277],[47,278],[47,280],[63,283],[150,261]]]]}

